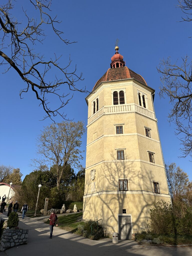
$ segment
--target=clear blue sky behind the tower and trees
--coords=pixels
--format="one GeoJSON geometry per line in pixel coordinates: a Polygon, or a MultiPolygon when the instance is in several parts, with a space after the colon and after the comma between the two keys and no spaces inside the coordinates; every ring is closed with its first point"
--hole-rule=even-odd
{"type": "MultiPolygon", "coordinates": [[[[15,2],[15,16],[20,19],[22,4],[31,15],[33,7],[29,1],[15,2]]],[[[45,59],[62,54],[60,63],[68,63],[69,54],[72,65],[77,64],[78,72],[83,72],[84,80],[78,87],[92,90],[97,80],[110,67],[114,54],[114,44],[119,38],[119,53],[124,56],[126,66],[141,74],[148,86],[155,89],[155,111],[165,162],[175,162],[192,179],[191,158],[178,158],[180,141],[174,134],[174,125],[167,121],[170,105],[168,99],[159,99],[160,75],[156,67],[160,59],[171,56],[173,61],[188,54],[191,57],[192,23],[178,22],[182,12],[176,8],[177,1],[61,1],[54,0],[52,15],[62,20],[59,28],[64,37],[76,44],[66,46],[46,29],[44,44],[37,44],[36,51],[45,59]]],[[[12,13],[14,13],[12,11],[12,13]]],[[[6,52],[6,49],[5,49],[6,52]]],[[[4,67],[0,66],[4,71],[4,67]]],[[[54,74],[53,74],[54,75],[54,74]]],[[[51,79],[51,76],[50,76],[51,79]]],[[[19,91],[25,88],[18,74],[9,70],[0,74],[1,81],[1,148],[0,164],[20,168],[24,176],[32,171],[30,159],[36,157],[36,138],[43,126],[51,120],[39,121],[44,112],[39,107],[34,93],[30,90],[20,100],[19,91]]],[[[65,107],[69,119],[82,120],[87,124],[87,94],[75,92],[73,99],[65,107]]],[[[51,102],[54,104],[54,102],[51,102]]],[[[56,122],[62,121],[56,118],[56,122]]],[[[86,134],[82,138],[82,149],[86,150],[86,134]]],[[[85,157],[82,165],[85,166],[85,157]]]]}

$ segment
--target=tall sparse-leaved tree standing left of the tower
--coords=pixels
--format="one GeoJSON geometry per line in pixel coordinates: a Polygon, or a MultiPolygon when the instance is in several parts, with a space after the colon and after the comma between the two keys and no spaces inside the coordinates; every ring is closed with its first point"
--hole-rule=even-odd
{"type": "MultiPolygon", "coordinates": [[[[83,123],[78,121],[53,123],[44,127],[41,135],[38,137],[38,153],[44,157],[41,161],[34,159],[40,166],[45,166],[46,162],[55,165],[57,173],[57,188],[60,184],[68,164],[78,166],[83,159],[80,150],[81,136],[85,129],[83,123]]],[[[41,168],[44,171],[44,168],[41,168]]],[[[46,169],[47,172],[47,169],[46,169]]]]}

